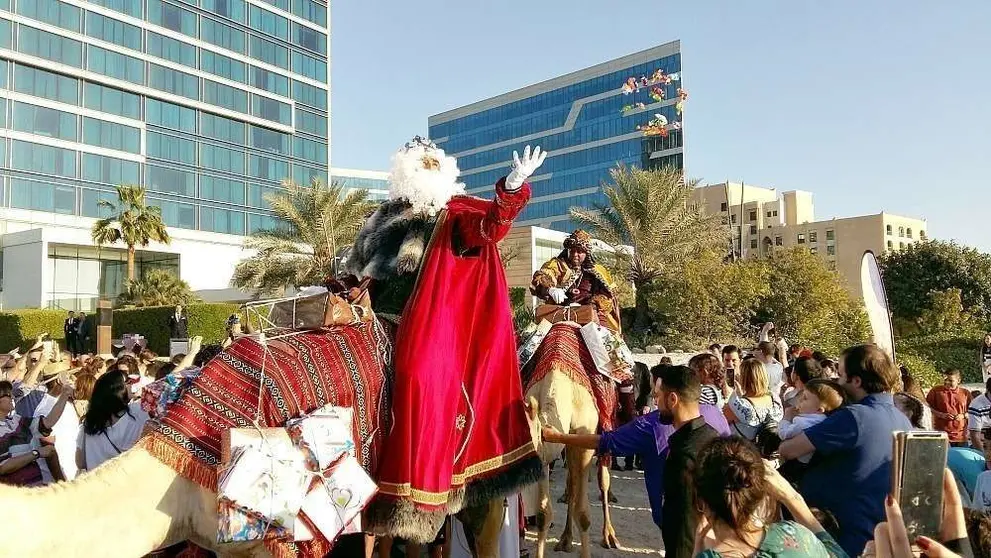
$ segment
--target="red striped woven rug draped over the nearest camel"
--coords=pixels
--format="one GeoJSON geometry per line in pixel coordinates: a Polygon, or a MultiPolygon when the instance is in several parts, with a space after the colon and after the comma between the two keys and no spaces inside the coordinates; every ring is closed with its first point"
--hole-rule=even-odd
{"type": "MultiPolygon", "coordinates": [[[[139,445],[179,474],[216,492],[220,437],[230,428],[283,426],[327,404],[354,408],[358,459],[374,476],[389,418],[392,335],[388,324],[339,326],[273,339],[241,338],[211,360],[139,445]],[[263,372],[264,367],[264,374],[263,372]],[[261,390],[260,413],[259,386],[261,390]]],[[[331,544],[265,541],[277,557],[324,556],[331,544]]]]}

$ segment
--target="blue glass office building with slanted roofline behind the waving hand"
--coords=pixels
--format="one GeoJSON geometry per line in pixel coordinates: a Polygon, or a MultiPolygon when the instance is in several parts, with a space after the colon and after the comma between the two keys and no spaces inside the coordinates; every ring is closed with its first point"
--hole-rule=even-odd
{"type": "Polygon", "coordinates": [[[666,137],[637,130],[656,114],[679,120],[681,83],[662,84],[660,100],[650,98],[649,87],[622,91],[627,78],[650,78],[657,70],[680,74],[679,41],[431,116],[430,137],[457,157],[474,194],[491,192],[509,171],[514,150],[540,145],[547,160],[531,179],[533,198],[516,224],[570,231],[577,225],[569,208],[605,204],[601,184],[618,163],[683,168],[683,130],[671,129],[666,137]],[[636,108],[638,102],[643,106],[636,108]]]}

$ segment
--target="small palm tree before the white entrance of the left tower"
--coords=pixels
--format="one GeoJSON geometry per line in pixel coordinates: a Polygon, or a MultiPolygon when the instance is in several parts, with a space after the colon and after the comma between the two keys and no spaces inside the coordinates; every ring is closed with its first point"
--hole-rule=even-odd
{"type": "Polygon", "coordinates": [[[152,241],[169,243],[169,232],[162,221],[162,209],[145,202],[142,186],[117,186],[117,203],[100,200],[110,217],[93,224],[92,237],[97,246],[123,242],[127,246],[127,280],[134,281],[134,250],[152,241]]]}

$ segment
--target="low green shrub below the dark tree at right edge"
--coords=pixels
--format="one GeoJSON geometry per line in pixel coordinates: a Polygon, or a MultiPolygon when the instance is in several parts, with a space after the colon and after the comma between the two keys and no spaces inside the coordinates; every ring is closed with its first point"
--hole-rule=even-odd
{"type": "MultiPolygon", "coordinates": [[[[960,370],[965,383],[980,382],[981,370],[977,352],[983,338],[984,334],[980,331],[942,331],[912,335],[898,339],[895,352],[899,361],[904,361],[903,356],[917,357],[920,361],[931,364],[936,372],[956,368],[960,370]]],[[[909,369],[914,376],[915,370],[911,366],[909,369]]]]}

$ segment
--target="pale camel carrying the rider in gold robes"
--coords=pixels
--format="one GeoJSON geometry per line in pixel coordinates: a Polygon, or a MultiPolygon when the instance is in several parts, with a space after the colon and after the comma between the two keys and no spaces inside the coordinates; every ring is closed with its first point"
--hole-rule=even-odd
{"type": "MultiPolygon", "coordinates": [[[[547,531],[554,517],[554,509],[550,501],[549,467],[551,461],[561,454],[561,444],[544,442],[540,436],[543,425],[552,426],[560,432],[571,434],[594,434],[599,425],[599,413],[592,399],[592,394],[583,386],[575,383],[568,374],[560,370],[552,370],[527,389],[528,413],[530,418],[531,435],[537,453],[544,463],[544,474],[538,484],[539,511],[537,512],[537,558],[544,558],[544,546],[547,541],[547,531]]],[[[589,537],[589,504],[588,477],[593,459],[593,451],[581,448],[565,448],[567,456],[567,518],[564,522],[564,532],[554,550],[571,552],[572,522],[579,529],[581,540],[581,556],[588,558],[591,554],[589,537]]],[[[600,465],[599,490],[609,494],[609,470],[600,465]]],[[[619,548],[616,532],[612,526],[609,512],[609,500],[603,499],[602,513],[602,546],[619,548]]]]}

